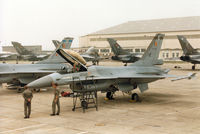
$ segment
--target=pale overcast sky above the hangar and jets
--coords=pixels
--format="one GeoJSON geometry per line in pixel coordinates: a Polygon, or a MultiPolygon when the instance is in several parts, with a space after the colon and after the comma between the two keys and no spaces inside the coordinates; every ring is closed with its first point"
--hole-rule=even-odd
{"type": "Polygon", "coordinates": [[[0,0],[0,41],[42,45],[134,20],[200,16],[200,0],[0,0]]]}

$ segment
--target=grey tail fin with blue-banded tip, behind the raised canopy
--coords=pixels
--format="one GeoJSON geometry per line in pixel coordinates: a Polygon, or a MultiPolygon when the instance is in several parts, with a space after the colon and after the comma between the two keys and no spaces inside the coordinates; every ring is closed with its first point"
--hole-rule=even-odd
{"type": "Polygon", "coordinates": [[[56,53],[56,51],[58,49],[61,49],[61,48],[64,48],[64,47],[67,48],[67,49],[70,48],[72,41],[73,41],[73,38],[71,38],[71,37],[64,38],[62,40],[62,42],[58,45],[58,47],[53,51],[53,53],[46,60],[39,61],[39,62],[37,62],[37,64],[64,63],[64,62],[66,62],[66,60],[64,60],[60,55],[58,55],[56,53]]]}

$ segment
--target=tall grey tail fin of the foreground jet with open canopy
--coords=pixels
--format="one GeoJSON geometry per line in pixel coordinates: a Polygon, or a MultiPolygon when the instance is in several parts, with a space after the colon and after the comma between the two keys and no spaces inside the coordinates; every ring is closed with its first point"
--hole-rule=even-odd
{"type": "Polygon", "coordinates": [[[158,61],[164,34],[156,34],[142,58],[131,65],[154,65],[158,61]]]}

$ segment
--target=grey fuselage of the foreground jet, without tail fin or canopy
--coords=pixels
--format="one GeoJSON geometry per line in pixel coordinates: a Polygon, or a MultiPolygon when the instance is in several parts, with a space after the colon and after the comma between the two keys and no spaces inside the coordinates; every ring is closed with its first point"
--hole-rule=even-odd
{"type": "Polygon", "coordinates": [[[53,73],[28,84],[28,86],[48,87],[54,82],[58,85],[71,85],[72,90],[86,88],[94,90],[94,88],[97,88],[97,90],[106,91],[112,85],[133,90],[138,84],[163,79],[165,78],[165,74],[165,70],[155,66],[91,66],[88,68],[88,71],[84,72],[69,74],[53,73]]]}

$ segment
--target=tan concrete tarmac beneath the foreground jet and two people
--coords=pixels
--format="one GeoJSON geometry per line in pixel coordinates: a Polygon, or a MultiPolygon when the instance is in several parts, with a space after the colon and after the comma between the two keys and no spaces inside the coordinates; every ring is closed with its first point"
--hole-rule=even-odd
{"type": "MultiPolygon", "coordinates": [[[[100,63],[122,65],[121,63],[100,63]]],[[[99,110],[72,111],[72,98],[62,97],[60,116],[50,116],[53,91],[34,92],[30,119],[24,119],[24,103],[15,90],[0,89],[0,134],[199,134],[200,133],[200,67],[191,64],[166,63],[169,74],[196,72],[193,80],[171,82],[170,78],[149,84],[139,94],[141,102],[130,102],[130,96],[117,92],[115,100],[104,100],[98,93],[99,110]],[[178,65],[180,69],[174,69],[178,65]]],[[[80,105],[80,103],[78,103],[80,105]]]]}

